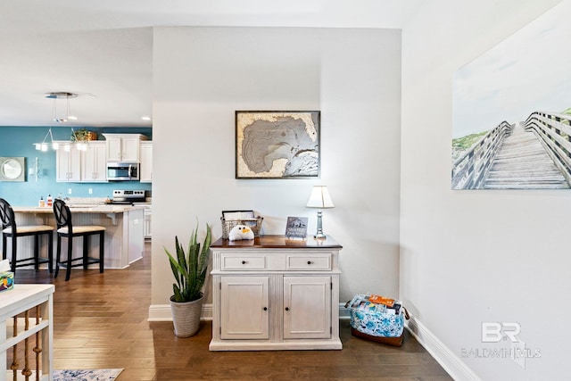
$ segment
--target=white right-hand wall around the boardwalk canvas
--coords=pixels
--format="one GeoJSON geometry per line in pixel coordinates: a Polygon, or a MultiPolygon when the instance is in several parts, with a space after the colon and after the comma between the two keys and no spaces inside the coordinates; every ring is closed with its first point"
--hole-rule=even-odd
{"type": "Polygon", "coordinates": [[[568,373],[571,195],[450,186],[454,72],[557,3],[435,0],[402,31],[401,297],[421,339],[457,379],[568,373]],[[518,322],[518,337],[541,357],[525,369],[486,357],[510,348],[509,340],[482,343],[481,323],[490,321],[518,322]],[[483,357],[462,356],[470,350],[483,357]]]}

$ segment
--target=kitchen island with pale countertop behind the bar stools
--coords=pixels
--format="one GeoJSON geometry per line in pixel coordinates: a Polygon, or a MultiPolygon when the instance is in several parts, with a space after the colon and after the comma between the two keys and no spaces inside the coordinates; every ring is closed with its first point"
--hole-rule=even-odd
{"type": "MultiPolygon", "coordinates": [[[[124,269],[130,263],[143,258],[145,250],[144,205],[68,203],[68,206],[70,206],[74,226],[99,225],[105,228],[105,269],[124,269]]],[[[18,225],[51,225],[56,227],[52,207],[14,206],[12,209],[18,225]]],[[[74,244],[74,256],[81,256],[82,238],[76,238],[74,241],[78,241],[77,244],[74,244]]],[[[40,250],[44,256],[46,256],[47,251],[46,245],[42,242],[43,247],[40,250]]],[[[55,250],[56,240],[54,237],[54,257],[55,250]]],[[[97,257],[97,240],[89,240],[89,251],[97,257]]],[[[30,253],[33,252],[33,240],[20,239],[18,252],[18,258],[30,256],[30,253]]],[[[62,253],[62,255],[65,254],[62,253]]]]}

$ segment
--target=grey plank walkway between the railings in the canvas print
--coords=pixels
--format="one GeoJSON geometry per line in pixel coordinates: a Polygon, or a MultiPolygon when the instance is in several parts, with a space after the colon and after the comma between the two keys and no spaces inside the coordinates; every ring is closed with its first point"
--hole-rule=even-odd
{"type": "Polygon", "coordinates": [[[531,130],[517,123],[492,159],[484,189],[568,189],[566,178],[531,130]]]}

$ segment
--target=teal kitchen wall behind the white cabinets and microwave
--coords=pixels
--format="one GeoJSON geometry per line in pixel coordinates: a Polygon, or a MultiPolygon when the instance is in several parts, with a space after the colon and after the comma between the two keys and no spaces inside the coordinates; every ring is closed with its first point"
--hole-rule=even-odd
{"type": "MultiPolygon", "coordinates": [[[[98,134],[143,134],[153,139],[152,128],[88,128],[98,134]]],[[[111,197],[113,189],[145,189],[151,190],[151,184],[138,181],[120,181],[112,183],[58,183],[55,181],[55,151],[37,151],[34,143],[41,143],[46,137],[49,127],[0,127],[0,157],[17,156],[26,158],[26,181],[0,181],[0,197],[12,206],[36,206],[40,196],[46,200],[47,195],[57,197],[111,197]],[[39,177],[29,176],[29,169],[39,164],[39,177]],[[89,195],[89,188],[93,194],[89,195]],[[71,195],[68,190],[71,189],[71,195]]],[[[52,127],[54,140],[70,140],[71,128],[52,127]]],[[[50,141],[49,137],[47,141],[50,141]]]]}

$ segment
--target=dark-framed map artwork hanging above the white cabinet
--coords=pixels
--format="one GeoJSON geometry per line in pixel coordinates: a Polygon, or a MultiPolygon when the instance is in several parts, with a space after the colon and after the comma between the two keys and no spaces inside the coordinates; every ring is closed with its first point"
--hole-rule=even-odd
{"type": "Polygon", "coordinates": [[[236,178],[318,178],[319,124],[319,111],[236,111],[236,178]]]}

